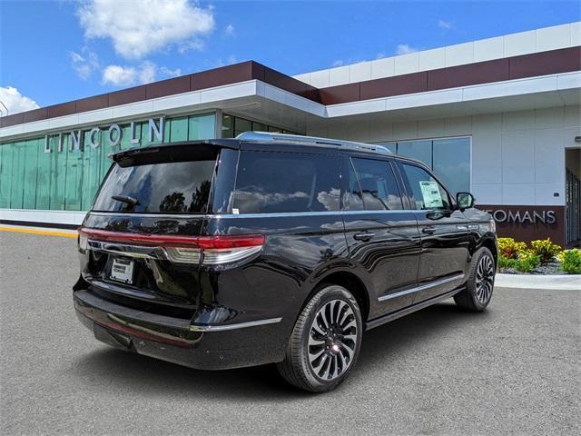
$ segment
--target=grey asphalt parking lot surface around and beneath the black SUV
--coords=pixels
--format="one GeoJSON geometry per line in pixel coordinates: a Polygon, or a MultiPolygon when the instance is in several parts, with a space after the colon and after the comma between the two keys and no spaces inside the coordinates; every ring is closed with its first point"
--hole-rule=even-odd
{"type": "Polygon", "coordinates": [[[497,288],[363,337],[336,391],[271,367],[200,372],[117,351],[74,315],[74,239],[0,232],[0,434],[579,434],[581,293],[497,288]]]}

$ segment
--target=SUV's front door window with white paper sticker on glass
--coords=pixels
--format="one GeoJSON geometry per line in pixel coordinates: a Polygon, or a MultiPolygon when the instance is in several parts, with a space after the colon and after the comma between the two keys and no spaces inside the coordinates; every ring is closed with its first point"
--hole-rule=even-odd
{"type": "Polygon", "coordinates": [[[402,163],[401,168],[407,177],[408,191],[416,209],[449,209],[448,193],[426,170],[416,165],[402,163]]]}

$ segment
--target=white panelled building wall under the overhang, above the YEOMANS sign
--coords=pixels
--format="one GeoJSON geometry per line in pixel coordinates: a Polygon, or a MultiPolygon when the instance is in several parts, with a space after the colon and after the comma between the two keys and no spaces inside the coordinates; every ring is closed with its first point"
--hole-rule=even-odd
{"type": "Polygon", "coordinates": [[[470,135],[478,203],[565,205],[565,148],[579,145],[579,107],[397,123],[387,115],[342,118],[310,124],[307,134],[369,143],[470,135]]]}

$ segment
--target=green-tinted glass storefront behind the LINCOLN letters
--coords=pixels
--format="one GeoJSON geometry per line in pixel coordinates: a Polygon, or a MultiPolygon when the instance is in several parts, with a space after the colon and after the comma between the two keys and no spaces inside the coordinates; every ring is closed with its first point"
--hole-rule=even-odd
{"type": "MultiPolygon", "coordinates": [[[[155,118],[158,122],[159,118],[155,118]]],[[[168,117],[164,120],[163,142],[212,139],[215,114],[168,117]]],[[[111,153],[149,144],[160,144],[155,137],[149,143],[147,121],[135,122],[131,142],[131,124],[120,124],[121,140],[111,145],[108,126],[94,134],[82,132],[81,150],[71,150],[70,132],[50,134],[51,153],[44,152],[44,136],[0,144],[0,208],[86,211],[93,203],[104,175],[109,171],[111,153]]],[[[116,140],[113,132],[113,141],[116,140]]]]}

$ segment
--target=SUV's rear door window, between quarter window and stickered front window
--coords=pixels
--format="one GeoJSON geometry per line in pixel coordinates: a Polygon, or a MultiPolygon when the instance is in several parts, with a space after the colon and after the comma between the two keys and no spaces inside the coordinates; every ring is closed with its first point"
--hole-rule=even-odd
{"type": "Polygon", "coordinates": [[[352,158],[363,205],[368,211],[401,210],[398,183],[387,161],[352,158]]]}

